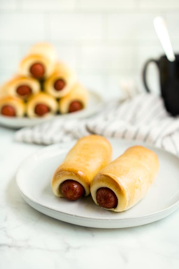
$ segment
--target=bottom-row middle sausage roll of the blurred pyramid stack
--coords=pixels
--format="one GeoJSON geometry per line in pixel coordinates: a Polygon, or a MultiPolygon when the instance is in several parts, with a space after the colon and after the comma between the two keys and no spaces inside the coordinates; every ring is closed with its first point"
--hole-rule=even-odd
{"type": "Polygon", "coordinates": [[[42,117],[55,114],[58,109],[58,103],[52,96],[40,92],[29,98],[27,102],[27,116],[42,117]]]}

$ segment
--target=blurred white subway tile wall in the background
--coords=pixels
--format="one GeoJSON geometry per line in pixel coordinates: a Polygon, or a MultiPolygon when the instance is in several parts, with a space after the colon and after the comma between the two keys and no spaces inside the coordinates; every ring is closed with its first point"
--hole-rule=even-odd
{"type": "MultiPolygon", "coordinates": [[[[81,82],[106,98],[120,96],[124,80],[144,90],[144,62],[163,54],[153,27],[158,15],[166,19],[179,52],[178,0],[1,0],[0,83],[16,72],[30,45],[45,40],[81,82]]],[[[155,65],[148,80],[157,91],[155,65]]]]}

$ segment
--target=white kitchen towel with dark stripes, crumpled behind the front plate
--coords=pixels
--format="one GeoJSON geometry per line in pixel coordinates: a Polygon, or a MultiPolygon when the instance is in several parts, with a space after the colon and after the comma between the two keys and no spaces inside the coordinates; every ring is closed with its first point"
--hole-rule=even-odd
{"type": "Polygon", "coordinates": [[[144,141],[179,156],[179,117],[171,117],[162,98],[154,94],[138,94],[122,103],[112,101],[90,119],[54,119],[23,128],[15,140],[48,145],[89,134],[144,141]]]}

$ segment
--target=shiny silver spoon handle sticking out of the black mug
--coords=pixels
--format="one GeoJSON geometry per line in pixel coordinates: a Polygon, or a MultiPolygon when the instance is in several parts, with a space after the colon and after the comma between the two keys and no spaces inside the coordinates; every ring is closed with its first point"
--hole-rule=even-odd
{"type": "Polygon", "coordinates": [[[154,19],[154,28],[157,33],[157,36],[161,42],[161,45],[163,47],[163,50],[166,54],[167,59],[170,62],[175,61],[175,54],[172,49],[172,44],[170,41],[169,33],[166,27],[166,22],[165,20],[158,16],[154,19]]]}

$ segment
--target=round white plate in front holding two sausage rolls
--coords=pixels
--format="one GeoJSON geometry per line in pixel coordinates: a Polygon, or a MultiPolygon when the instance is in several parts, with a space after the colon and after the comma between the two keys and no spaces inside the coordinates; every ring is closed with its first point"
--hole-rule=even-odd
{"type": "MultiPolygon", "coordinates": [[[[135,141],[115,138],[109,141],[113,148],[113,159],[129,146],[136,144],[135,141]]],[[[36,210],[61,221],[81,226],[123,228],[157,221],[179,207],[178,158],[142,143],[138,144],[147,146],[157,153],[160,170],[145,198],[134,207],[116,213],[95,205],[91,196],[75,202],[56,197],[51,189],[51,177],[74,143],[47,146],[21,164],[16,178],[17,185],[24,200],[36,210]]]]}

